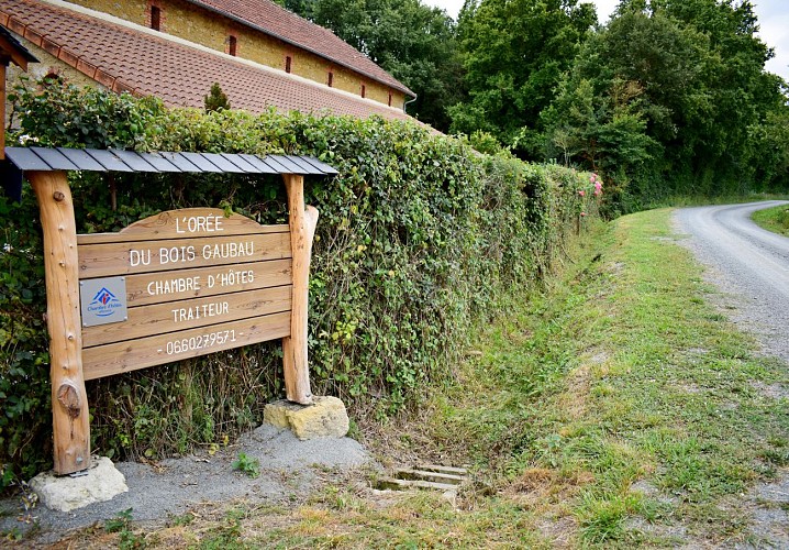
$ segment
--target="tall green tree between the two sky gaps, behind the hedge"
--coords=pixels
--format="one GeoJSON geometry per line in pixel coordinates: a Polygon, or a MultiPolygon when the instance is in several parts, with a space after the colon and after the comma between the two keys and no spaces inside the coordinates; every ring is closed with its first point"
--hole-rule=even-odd
{"type": "Polygon", "coordinates": [[[458,23],[470,100],[451,109],[452,130],[482,130],[538,157],[540,113],[597,22],[577,0],[467,2],[458,23]]]}

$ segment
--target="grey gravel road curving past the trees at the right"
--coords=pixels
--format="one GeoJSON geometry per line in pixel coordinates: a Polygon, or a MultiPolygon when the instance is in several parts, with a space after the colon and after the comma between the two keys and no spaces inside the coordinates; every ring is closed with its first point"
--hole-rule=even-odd
{"type": "Polygon", "coordinates": [[[682,208],[675,219],[708,267],[708,280],[731,301],[732,320],[754,333],[766,354],[789,363],[789,238],[751,220],[754,211],[778,205],[789,201],[682,208]]]}

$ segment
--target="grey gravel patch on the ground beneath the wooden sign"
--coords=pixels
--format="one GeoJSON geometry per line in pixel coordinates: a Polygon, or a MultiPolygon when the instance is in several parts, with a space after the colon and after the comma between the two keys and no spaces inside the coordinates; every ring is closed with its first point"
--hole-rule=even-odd
{"type": "Polygon", "coordinates": [[[0,531],[23,535],[35,528],[34,537],[24,546],[38,546],[57,542],[73,529],[103,525],[129,508],[134,521],[164,522],[196,505],[234,498],[253,504],[287,504],[302,499],[327,472],[336,476],[369,465],[374,465],[369,454],[353,439],[299,441],[290,431],[264,425],[213,455],[204,453],[149,464],[116,463],[129,492],[105,503],[70,513],[38,505],[25,514],[19,497],[2,499],[0,531]],[[253,479],[233,470],[232,462],[241,452],[259,462],[259,476],[253,479]]]}

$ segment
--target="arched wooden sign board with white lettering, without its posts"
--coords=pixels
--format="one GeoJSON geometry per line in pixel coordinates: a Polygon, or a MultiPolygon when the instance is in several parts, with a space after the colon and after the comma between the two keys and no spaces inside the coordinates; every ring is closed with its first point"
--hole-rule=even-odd
{"type": "Polygon", "coordinates": [[[288,226],[190,208],[77,243],[85,380],[290,336],[288,226]]]}

